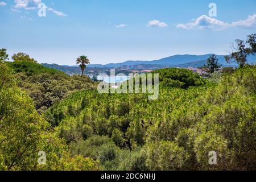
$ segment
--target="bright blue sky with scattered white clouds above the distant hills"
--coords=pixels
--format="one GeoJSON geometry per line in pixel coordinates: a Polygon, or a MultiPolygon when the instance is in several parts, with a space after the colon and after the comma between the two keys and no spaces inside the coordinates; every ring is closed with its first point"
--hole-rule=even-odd
{"type": "Polygon", "coordinates": [[[256,33],[256,1],[0,0],[0,24],[0,48],[39,63],[226,55],[256,33]]]}

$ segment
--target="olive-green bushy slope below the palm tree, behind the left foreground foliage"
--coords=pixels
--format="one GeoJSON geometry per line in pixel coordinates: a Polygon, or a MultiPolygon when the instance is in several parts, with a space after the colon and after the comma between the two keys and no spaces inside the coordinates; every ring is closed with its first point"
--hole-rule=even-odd
{"type": "Polygon", "coordinates": [[[97,86],[87,76],[68,76],[32,61],[7,62],[7,65],[13,70],[18,86],[34,100],[39,113],[77,90],[97,86]]]}

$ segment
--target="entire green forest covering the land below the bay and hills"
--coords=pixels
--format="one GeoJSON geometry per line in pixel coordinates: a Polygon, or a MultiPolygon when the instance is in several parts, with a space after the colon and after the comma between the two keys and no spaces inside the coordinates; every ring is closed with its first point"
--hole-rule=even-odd
{"type": "Polygon", "coordinates": [[[1,49],[0,170],[256,168],[256,67],[238,53],[226,59],[240,68],[212,64],[208,78],[186,69],[154,71],[158,100],[100,94],[87,76],[65,75],[28,55],[8,58],[1,49]],[[43,165],[39,151],[46,153],[43,165]],[[216,165],[209,165],[210,151],[216,165]]]}

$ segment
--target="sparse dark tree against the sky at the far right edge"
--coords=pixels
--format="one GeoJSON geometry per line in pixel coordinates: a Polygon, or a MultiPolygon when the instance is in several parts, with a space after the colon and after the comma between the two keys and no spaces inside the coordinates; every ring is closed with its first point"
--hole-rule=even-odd
{"type": "Polygon", "coordinates": [[[247,36],[246,43],[243,40],[237,39],[236,44],[232,46],[232,52],[229,56],[225,56],[228,63],[235,62],[240,68],[245,67],[247,56],[256,53],[256,34],[247,36]],[[234,51],[233,51],[234,50],[234,51]]]}

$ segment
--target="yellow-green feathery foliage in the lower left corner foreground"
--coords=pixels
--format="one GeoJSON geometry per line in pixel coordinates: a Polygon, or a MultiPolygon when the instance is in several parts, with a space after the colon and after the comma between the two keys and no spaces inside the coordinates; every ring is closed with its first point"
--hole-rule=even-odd
{"type": "Polygon", "coordinates": [[[0,63],[0,170],[100,169],[96,160],[69,154],[67,144],[49,130],[49,123],[10,73],[0,63]],[[46,152],[47,165],[38,164],[39,151],[46,152]]]}

